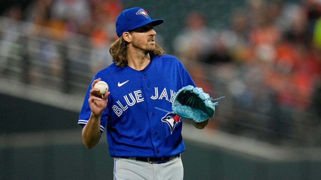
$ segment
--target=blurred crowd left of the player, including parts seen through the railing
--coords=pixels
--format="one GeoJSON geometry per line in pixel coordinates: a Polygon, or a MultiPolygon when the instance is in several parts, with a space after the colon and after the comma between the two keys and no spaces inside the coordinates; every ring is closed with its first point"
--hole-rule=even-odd
{"type": "MultiPolygon", "coordinates": [[[[123,9],[120,0],[33,0],[23,6],[19,3],[12,4],[2,15],[17,22],[32,24],[28,28],[20,27],[22,30],[11,24],[6,27],[7,34],[22,31],[21,33],[27,38],[41,37],[49,41],[63,42],[65,45],[74,41],[76,45],[89,48],[88,60],[94,65],[91,70],[95,72],[111,63],[108,49],[117,39],[115,21],[123,9]],[[82,36],[72,36],[72,34],[83,35],[86,37],[85,42],[76,42],[80,41],[82,36]]],[[[5,35],[2,38],[15,42],[13,38],[18,37],[5,35]]],[[[21,39],[19,41],[21,42],[21,39]]],[[[39,47],[42,52],[61,53],[54,45],[34,44],[32,46],[39,47]]],[[[52,62],[50,66],[56,68],[51,69],[59,69],[58,67],[62,65],[61,58],[54,60],[52,56],[41,58],[52,62]]],[[[51,71],[54,74],[60,73],[60,70],[51,71]]]]}

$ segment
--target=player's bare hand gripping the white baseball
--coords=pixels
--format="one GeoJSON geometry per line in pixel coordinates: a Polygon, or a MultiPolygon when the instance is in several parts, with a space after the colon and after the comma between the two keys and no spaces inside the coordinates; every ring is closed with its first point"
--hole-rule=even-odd
{"type": "Polygon", "coordinates": [[[100,80],[101,79],[98,78],[92,82],[90,95],[89,95],[89,99],[88,99],[91,112],[94,115],[100,115],[102,113],[102,111],[106,108],[107,103],[108,103],[107,98],[108,98],[108,95],[110,94],[109,91],[104,95],[96,94],[96,92],[99,92],[99,89],[94,88],[94,86],[100,80]]]}

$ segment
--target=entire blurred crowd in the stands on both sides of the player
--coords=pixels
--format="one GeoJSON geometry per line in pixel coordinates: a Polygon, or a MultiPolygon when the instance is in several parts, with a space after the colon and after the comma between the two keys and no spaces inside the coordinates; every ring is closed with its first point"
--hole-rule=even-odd
{"type": "MultiPolygon", "coordinates": [[[[30,30],[35,36],[89,37],[96,72],[111,63],[108,49],[123,9],[120,0],[35,0],[3,15],[40,25],[30,30]]],[[[172,39],[173,54],[197,86],[211,96],[227,96],[209,126],[271,143],[321,145],[320,17],[320,0],[247,0],[231,12],[226,29],[210,27],[210,17],[200,11],[187,14],[186,26],[172,39]]]]}

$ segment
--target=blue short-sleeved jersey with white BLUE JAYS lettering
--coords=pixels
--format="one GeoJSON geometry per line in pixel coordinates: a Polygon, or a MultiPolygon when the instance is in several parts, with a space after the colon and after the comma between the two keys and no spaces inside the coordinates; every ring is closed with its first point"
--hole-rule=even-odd
{"type": "MultiPolygon", "coordinates": [[[[107,132],[111,157],[164,157],[185,151],[181,135],[183,119],[169,112],[176,92],[195,84],[176,57],[153,56],[141,71],[113,63],[100,70],[93,80],[98,78],[107,82],[110,92],[100,130],[107,132]]],[[[88,103],[91,84],[79,115],[81,126],[91,114],[88,103]]]]}

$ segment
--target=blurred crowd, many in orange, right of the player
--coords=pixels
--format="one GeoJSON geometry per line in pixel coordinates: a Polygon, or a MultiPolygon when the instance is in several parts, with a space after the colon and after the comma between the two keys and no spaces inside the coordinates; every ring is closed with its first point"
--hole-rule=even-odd
{"type": "Polygon", "coordinates": [[[197,86],[232,98],[213,126],[272,143],[320,144],[321,1],[248,0],[230,17],[230,28],[213,29],[209,17],[191,12],[173,43],[197,86]]]}

